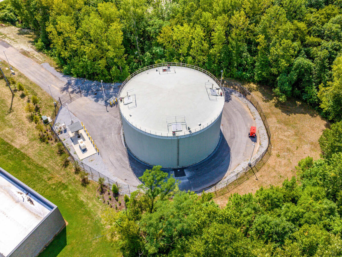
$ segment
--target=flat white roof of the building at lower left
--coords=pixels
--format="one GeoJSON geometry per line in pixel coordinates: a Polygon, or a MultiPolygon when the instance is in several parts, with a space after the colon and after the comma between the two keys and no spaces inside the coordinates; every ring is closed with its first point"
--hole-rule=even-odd
{"type": "Polygon", "coordinates": [[[0,176],[0,253],[11,253],[50,211],[0,176]]]}

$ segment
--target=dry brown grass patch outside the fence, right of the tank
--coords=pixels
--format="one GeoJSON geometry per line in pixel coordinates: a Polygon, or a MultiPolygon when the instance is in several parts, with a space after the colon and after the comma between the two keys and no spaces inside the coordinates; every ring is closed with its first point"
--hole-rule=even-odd
{"type": "Polygon", "coordinates": [[[253,83],[243,85],[261,105],[270,130],[272,139],[272,154],[263,168],[252,177],[237,186],[231,192],[215,198],[221,206],[227,203],[231,194],[254,193],[261,186],[281,185],[286,178],[296,175],[294,167],[306,156],[318,159],[320,148],[318,138],[329,126],[317,111],[299,100],[290,99],[278,103],[272,89],[253,83]]]}

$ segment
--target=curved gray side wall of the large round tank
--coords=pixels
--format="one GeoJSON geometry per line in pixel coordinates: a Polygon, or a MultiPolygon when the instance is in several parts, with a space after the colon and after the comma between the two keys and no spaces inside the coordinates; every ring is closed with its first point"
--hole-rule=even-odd
{"type": "MultiPolygon", "coordinates": [[[[222,112],[206,129],[179,137],[179,167],[197,163],[211,154],[220,139],[222,112]]],[[[158,137],[136,130],[122,117],[126,144],[138,159],[166,168],[177,167],[177,137],[158,137]]]]}

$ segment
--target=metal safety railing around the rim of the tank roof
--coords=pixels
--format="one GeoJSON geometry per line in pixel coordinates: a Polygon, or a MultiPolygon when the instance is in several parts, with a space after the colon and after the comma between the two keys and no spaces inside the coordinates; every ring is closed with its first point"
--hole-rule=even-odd
{"type": "MultiPolygon", "coordinates": [[[[221,82],[213,75],[211,74],[210,72],[206,71],[205,69],[202,69],[200,67],[197,67],[195,65],[191,65],[191,64],[185,64],[185,63],[178,63],[178,62],[163,62],[163,63],[157,63],[157,64],[153,64],[153,65],[149,65],[149,66],[146,66],[144,68],[141,68],[140,70],[137,70],[135,71],[134,73],[132,73],[131,75],[129,75],[125,81],[121,84],[121,87],[119,89],[119,93],[118,93],[118,97],[120,97],[121,95],[121,91],[122,89],[125,87],[125,85],[134,77],[140,75],[140,74],[143,74],[144,72],[146,71],[149,71],[149,70],[152,70],[152,69],[155,69],[155,68],[159,68],[159,67],[166,67],[166,66],[174,66],[174,67],[180,67],[180,68],[188,68],[188,69],[192,69],[192,70],[196,70],[196,71],[199,71],[203,74],[206,74],[207,76],[209,76],[210,78],[212,78],[216,84],[219,85],[220,89],[222,90],[222,94],[223,94],[223,99],[225,99],[225,92],[223,90],[223,86],[221,84],[221,82]]],[[[120,109],[120,104],[119,104],[119,109],[120,109]]],[[[222,108],[223,109],[223,108],[222,108]]],[[[221,110],[222,112],[222,110],[221,110]]],[[[145,129],[141,126],[137,126],[136,124],[134,125],[132,122],[129,121],[129,119],[127,119],[126,117],[124,117],[132,126],[134,126],[136,129],[142,131],[142,132],[145,132],[145,133],[149,133],[149,134],[152,134],[152,135],[157,135],[157,136],[184,136],[184,135],[190,135],[192,133],[195,133],[197,131],[200,131],[202,129],[204,129],[205,127],[208,127],[210,124],[212,124],[214,121],[216,121],[216,119],[221,115],[221,112],[216,115],[216,117],[214,119],[212,119],[210,122],[208,122],[206,125],[203,125],[203,126],[200,126],[198,128],[196,128],[195,130],[190,130],[191,132],[189,131],[184,131],[184,132],[176,132],[176,133],[161,133],[161,132],[156,132],[156,131],[151,131],[151,130],[148,130],[148,129],[145,129]]]]}

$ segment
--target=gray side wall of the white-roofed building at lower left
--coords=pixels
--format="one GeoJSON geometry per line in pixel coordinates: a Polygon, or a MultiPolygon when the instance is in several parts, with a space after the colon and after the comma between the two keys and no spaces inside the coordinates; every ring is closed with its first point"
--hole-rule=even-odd
{"type": "Polygon", "coordinates": [[[37,227],[8,255],[8,257],[34,257],[53,237],[65,227],[65,221],[56,207],[37,227]]]}

